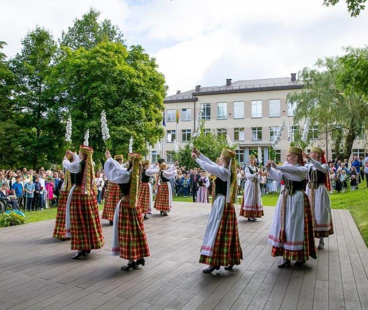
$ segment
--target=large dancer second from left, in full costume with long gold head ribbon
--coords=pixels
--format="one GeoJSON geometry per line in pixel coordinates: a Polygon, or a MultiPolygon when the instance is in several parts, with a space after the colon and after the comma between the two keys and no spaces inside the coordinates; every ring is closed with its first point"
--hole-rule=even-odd
{"type": "Polygon", "coordinates": [[[65,216],[66,236],[71,237],[72,250],[78,253],[72,257],[86,256],[92,249],[103,246],[104,240],[99,221],[96,189],[93,186],[93,149],[81,145],[80,152],[87,155],[80,162],[64,159],[63,166],[71,172],[71,182],[65,216]]]}

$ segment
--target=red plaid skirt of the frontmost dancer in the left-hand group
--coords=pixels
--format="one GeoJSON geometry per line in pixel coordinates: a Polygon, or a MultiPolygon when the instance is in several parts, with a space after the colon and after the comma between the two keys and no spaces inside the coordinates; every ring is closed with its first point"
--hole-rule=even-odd
{"type": "Polygon", "coordinates": [[[139,259],[150,256],[139,204],[136,208],[130,208],[128,199],[121,202],[118,228],[121,258],[139,259]]]}

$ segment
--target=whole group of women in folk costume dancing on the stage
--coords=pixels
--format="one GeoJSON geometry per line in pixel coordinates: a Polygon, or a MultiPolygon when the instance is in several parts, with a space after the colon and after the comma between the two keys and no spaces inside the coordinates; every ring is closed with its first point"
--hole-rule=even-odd
{"type": "MultiPolygon", "coordinates": [[[[91,147],[81,145],[79,155],[67,151],[63,160],[65,181],[53,237],[71,239],[72,250],[77,250],[73,259],[87,256],[92,249],[104,245],[93,184],[92,154],[91,147]]],[[[105,156],[104,171],[109,185],[102,219],[113,226],[111,253],[128,260],[122,270],[136,269],[139,265],[144,266],[145,257],[150,256],[143,220],[148,219],[152,207],[162,216],[167,216],[172,209],[169,180],[176,177],[178,162],[169,168],[164,161],[151,166],[148,160],[142,160],[142,156],[135,153],[129,154],[126,163],[123,163],[122,155],[112,158],[106,150],[105,156]],[[152,188],[149,180],[156,173],[159,177],[152,188]],[[157,190],[155,204],[153,190],[157,190]]],[[[232,270],[243,259],[234,208],[237,199],[235,152],[224,149],[216,163],[195,148],[191,156],[203,170],[214,176],[213,203],[199,262],[208,265],[203,269],[204,273],[219,270],[221,266],[232,270]]],[[[268,237],[273,246],[272,256],[283,257],[278,265],[280,268],[289,266],[291,260],[295,260],[297,266],[304,264],[309,256],[317,258],[314,237],[320,238],[318,248],[322,249],[324,237],[333,233],[327,192],[328,168],[324,161],[321,149],[312,148],[307,155],[295,147],[289,147],[282,165],[267,161],[271,178],[283,180],[285,184],[268,237]],[[309,163],[305,165],[303,158],[309,159],[309,163]]],[[[252,222],[264,215],[259,173],[255,158],[250,157],[240,215],[252,222]]]]}

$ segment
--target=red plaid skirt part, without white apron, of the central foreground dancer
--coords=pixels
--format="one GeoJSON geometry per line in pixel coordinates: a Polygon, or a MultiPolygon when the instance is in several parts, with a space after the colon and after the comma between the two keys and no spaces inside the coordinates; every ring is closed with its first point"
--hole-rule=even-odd
{"type": "Polygon", "coordinates": [[[239,265],[243,259],[234,205],[226,203],[217,231],[212,256],[200,255],[199,262],[212,266],[239,265]]]}

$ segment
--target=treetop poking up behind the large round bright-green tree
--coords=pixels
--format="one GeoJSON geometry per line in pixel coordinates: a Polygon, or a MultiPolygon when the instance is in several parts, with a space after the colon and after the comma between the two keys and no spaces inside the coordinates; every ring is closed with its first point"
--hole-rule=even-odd
{"type": "Polygon", "coordinates": [[[112,25],[109,19],[104,19],[98,23],[99,15],[99,11],[91,8],[88,13],[82,16],[82,19],[76,18],[74,25],[68,27],[67,32],[62,32],[60,45],[68,46],[72,50],[77,50],[80,47],[89,50],[104,41],[124,44],[124,36],[119,28],[112,25]]]}

